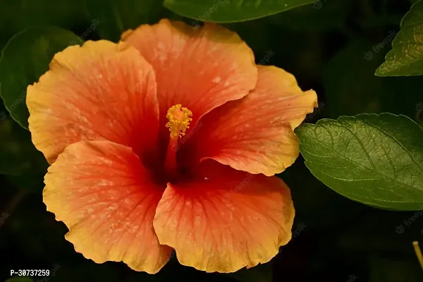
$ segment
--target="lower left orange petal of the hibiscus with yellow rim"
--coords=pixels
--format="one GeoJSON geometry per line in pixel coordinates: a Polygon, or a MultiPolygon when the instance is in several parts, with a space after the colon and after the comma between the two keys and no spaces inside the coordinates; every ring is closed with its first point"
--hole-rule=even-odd
{"type": "Polygon", "coordinates": [[[67,147],[49,168],[47,210],[69,228],[66,240],[94,262],[125,262],[154,274],[171,255],[152,221],[164,187],[154,183],[133,150],[109,141],[67,147]]]}

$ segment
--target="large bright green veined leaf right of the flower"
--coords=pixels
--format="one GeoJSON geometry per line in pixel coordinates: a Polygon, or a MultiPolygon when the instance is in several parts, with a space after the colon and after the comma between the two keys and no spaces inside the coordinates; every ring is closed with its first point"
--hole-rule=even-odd
{"type": "Polygon", "coordinates": [[[423,129],[410,118],[341,116],[295,133],[307,168],[339,194],[384,209],[422,209],[423,129]]]}

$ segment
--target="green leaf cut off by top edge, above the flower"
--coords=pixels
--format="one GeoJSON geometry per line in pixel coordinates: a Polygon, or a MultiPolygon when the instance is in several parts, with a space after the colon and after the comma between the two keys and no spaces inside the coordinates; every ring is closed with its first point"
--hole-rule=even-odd
{"type": "Polygon", "coordinates": [[[317,0],[164,0],[163,4],[169,10],[195,20],[234,23],[271,16],[314,2],[317,0]]]}

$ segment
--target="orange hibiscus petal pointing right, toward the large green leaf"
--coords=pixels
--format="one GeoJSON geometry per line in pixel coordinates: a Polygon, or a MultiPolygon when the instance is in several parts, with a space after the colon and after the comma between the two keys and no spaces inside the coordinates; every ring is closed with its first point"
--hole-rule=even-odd
{"type": "Polygon", "coordinates": [[[180,159],[211,158],[249,173],[281,173],[300,153],[293,130],[315,106],[316,92],[302,92],[293,75],[259,66],[255,90],[204,116],[197,132],[181,140],[186,145],[180,159]]]}

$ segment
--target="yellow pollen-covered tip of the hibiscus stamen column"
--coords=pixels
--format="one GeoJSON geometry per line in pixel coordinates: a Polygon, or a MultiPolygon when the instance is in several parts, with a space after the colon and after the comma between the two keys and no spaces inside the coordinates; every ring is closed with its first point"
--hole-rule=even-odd
{"type": "Polygon", "coordinates": [[[171,106],[168,109],[166,118],[168,123],[166,123],[166,128],[169,128],[171,132],[171,138],[181,137],[185,135],[185,130],[190,128],[190,121],[192,121],[192,112],[187,108],[183,108],[181,104],[171,106]]]}

